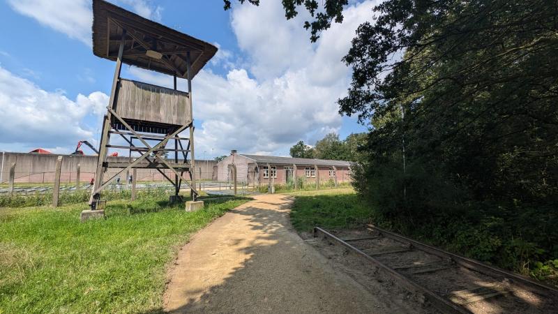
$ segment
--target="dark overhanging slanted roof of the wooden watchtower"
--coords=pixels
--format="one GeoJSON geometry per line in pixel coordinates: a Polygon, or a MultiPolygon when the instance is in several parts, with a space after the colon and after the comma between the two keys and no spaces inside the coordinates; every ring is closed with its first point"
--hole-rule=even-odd
{"type": "Polygon", "coordinates": [[[93,0],[93,54],[116,61],[123,29],[126,42],[122,62],[159,73],[187,78],[186,54],[190,52],[193,78],[217,52],[217,47],[203,40],[107,1],[93,0]]]}

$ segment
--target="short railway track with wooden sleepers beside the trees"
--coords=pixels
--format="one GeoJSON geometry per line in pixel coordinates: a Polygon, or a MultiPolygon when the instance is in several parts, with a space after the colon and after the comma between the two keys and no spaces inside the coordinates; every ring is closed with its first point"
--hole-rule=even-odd
{"type": "Polygon", "coordinates": [[[344,246],[442,313],[558,313],[558,290],[369,225],[314,237],[344,246]]]}

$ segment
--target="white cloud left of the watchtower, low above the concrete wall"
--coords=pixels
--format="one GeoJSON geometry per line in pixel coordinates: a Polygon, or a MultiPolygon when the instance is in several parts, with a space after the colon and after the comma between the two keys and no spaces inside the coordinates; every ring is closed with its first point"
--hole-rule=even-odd
{"type": "Polygon", "coordinates": [[[93,140],[82,121],[88,114],[105,112],[108,100],[96,91],[79,94],[73,101],[63,91],[45,91],[0,68],[0,143],[29,149],[72,147],[78,140],[93,140]]]}

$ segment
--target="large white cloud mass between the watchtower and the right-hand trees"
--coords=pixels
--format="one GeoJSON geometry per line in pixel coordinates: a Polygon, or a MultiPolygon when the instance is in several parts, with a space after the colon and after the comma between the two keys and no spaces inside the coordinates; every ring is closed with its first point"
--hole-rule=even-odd
{"type": "MultiPolygon", "coordinates": [[[[229,149],[286,154],[299,140],[313,144],[338,132],[336,100],[345,95],[350,73],[341,58],[372,6],[366,1],[347,8],[343,24],[333,24],[313,45],[301,27],[304,17],[286,21],[280,2],[235,6],[231,23],[249,63],[234,64],[232,53],[220,50],[211,64],[223,66],[227,75],[202,70],[193,80],[194,118],[203,121],[196,129],[197,156],[211,148],[218,149],[216,155],[229,149]]],[[[134,67],[128,73],[172,87],[167,75],[134,67]]],[[[183,80],[178,84],[186,87],[183,80]]]]}

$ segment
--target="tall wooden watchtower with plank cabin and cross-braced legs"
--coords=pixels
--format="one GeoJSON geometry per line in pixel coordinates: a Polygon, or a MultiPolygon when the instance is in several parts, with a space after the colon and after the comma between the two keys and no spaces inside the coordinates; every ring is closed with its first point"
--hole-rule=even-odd
{"type": "Polygon", "coordinates": [[[175,195],[184,183],[190,187],[192,196],[197,196],[193,171],[192,79],[216,52],[215,46],[202,40],[106,1],[93,0],[93,54],[116,61],[116,69],[89,200],[92,209],[96,208],[103,188],[132,168],[156,169],[173,184],[175,195]],[[122,63],[172,75],[174,89],[125,80],[120,76],[122,63]],[[188,92],[176,89],[176,77],[187,80],[188,92]],[[187,129],[189,137],[181,137],[187,129]],[[123,141],[119,145],[111,144],[112,136],[123,141]],[[169,142],[174,142],[171,148],[167,148],[169,142]],[[113,162],[107,160],[110,148],[125,149],[130,156],[131,152],[137,152],[140,157],[113,162]],[[103,177],[107,168],[120,170],[107,179],[103,177]],[[165,170],[172,172],[170,177],[165,170]]]}

